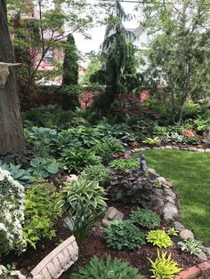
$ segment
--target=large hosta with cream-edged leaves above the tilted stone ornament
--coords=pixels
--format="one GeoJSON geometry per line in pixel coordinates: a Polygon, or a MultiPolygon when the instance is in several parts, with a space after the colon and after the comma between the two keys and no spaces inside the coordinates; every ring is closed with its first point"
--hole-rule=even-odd
{"type": "Polygon", "coordinates": [[[105,200],[105,190],[96,181],[78,179],[64,183],[59,207],[67,212],[77,243],[85,240],[94,221],[106,210],[105,200]]]}

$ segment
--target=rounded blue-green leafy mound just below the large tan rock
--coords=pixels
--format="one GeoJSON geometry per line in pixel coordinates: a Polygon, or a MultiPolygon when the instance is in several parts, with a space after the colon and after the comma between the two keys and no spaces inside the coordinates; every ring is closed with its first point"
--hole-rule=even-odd
{"type": "Polygon", "coordinates": [[[144,242],[144,235],[129,220],[116,220],[109,227],[105,228],[104,235],[108,247],[123,250],[141,248],[144,242]]]}

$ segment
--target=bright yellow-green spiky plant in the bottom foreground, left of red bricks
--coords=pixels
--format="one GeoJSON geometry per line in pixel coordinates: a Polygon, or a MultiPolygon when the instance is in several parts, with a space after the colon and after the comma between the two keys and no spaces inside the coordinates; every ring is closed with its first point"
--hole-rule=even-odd
{"type": "Polygon", "coordinates": [[[155,261],[151,259],[149,259],[149,261],[152,267],[149,270],[153,274],[151,278],[173,279],[182,270],[182,268],[179,268],[178,264],[171,259],[171,254],[167,256],[164,252],[160,255],[158,251],[158,258],[155,261]]]}

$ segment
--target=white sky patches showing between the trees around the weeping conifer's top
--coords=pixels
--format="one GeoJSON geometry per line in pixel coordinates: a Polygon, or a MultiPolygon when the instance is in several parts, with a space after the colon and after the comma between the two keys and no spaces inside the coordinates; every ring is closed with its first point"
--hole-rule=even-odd
{"type": "MultiPolygon", "coordinates": [[[[94,1],[94,0],[92,0],[94,1]]],[[[126,13],[133,13],[134,5],[133,3],[121,3],[125,9],[126,13]]],[[[137,28],[138,22],[137,20],[127,21],[125,22],[125,28],[137,28]]],[[[80,34],[74,33],[77,49],[80,52],[98,52],[100,49],[100,45],[103,42],[104,33],[106,26],[92,28],[90,30],[90,34],[92,35],[92,39],[85,39],[80,34]]]]}

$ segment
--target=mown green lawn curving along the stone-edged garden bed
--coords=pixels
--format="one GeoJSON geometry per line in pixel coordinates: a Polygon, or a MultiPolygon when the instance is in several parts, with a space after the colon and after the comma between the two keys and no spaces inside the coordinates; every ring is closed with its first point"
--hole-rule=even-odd
{"type": "Polygon", "coordinates": [[[150,168],[170,180],[180,196],[182,220],[195,237],[210,244],[210,153],[148,150],[150,168]]]}

